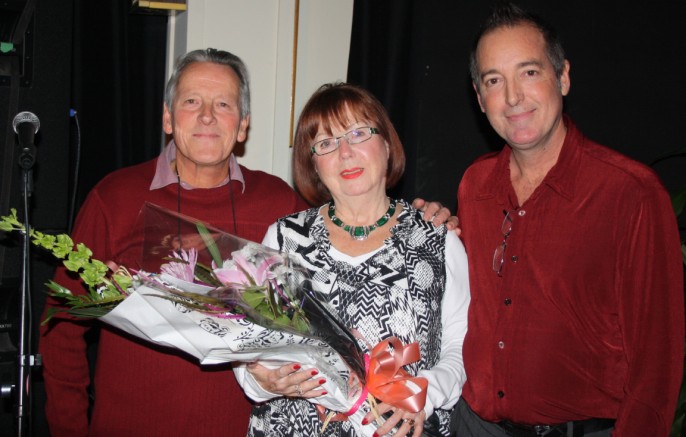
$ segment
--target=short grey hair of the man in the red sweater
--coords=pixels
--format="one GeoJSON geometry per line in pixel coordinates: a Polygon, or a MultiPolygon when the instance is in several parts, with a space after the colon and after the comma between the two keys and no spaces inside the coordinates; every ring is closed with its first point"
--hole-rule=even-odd
{"type": "Polygon", "coordinates": [[[164,92],[164,103],[167,105],[169,111],[172,111],[172,105],[176,98],[176,87],[179,85],[179,79],[183,70],[191,64],[196,62],[211,62],[213,64],[226,65],[231,67],[238,76],[238,92],[239,104],[241,110],[241,120],[244,120],[250,115],[250,82],[248,79],[248,69],[238,56],[217,49],[193,50],[179,57],[174,64],[174,72],[172,73],[167,87],[164,92]]]}

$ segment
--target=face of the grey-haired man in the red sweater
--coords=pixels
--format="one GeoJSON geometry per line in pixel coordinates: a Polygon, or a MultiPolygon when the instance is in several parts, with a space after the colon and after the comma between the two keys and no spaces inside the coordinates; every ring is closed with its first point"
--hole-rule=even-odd
{"type": "Polygon", "coordinates": [[[174,136],[177,146],[178,169],[190,176],[228,164],[248,128],[249,118],[240,118],[239,102],[238,76],[231,67],[210,62],[186,67],[163,118],[164,131],[174,136]]]}

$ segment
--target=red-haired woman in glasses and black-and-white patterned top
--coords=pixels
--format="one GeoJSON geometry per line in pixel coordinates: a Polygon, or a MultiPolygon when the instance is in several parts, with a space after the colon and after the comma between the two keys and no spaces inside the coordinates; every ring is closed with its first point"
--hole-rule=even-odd
{"type": "Polygon", "coordinates": [[[264,244],[299,256],[314,289],[364,338],[364,349],[389,337],[418,342],[421,358],[405,369],[428,380],[426,405],[412,413],[381,403],[378,411],[388,414],[378,426],[365,404],[321,432],[307,401],[322,395],[321,376],[298,363],[276,369],[250,363],[236,368],[246,394],[259,402],[249,435],[449,435],[449,411],[466,380],[469,280],[462,243],[387,196],[405,155],[385,109],[366,90],[322,86],[300,115],[293,153],[298,190],[323,206],[278,220],[264,244]]]}

